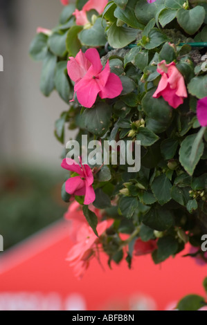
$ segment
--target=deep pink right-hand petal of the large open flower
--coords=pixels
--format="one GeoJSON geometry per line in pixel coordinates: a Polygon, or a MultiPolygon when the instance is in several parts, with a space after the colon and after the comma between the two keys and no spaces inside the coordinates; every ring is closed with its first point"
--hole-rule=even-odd
{"type": "Polygon", "coordinates": [[[115,98],[123,91],[123,85],[118,75],[110,73],[105,87],[102,87],[99,95],[101,98],[115,98]]]}

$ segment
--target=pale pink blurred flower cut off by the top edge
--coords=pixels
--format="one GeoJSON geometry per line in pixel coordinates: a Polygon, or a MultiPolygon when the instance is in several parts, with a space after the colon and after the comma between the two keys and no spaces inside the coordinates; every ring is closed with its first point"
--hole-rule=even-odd
{"type": "Polygon", "coordinates": [[[89,20],[87,19],[87,11],[90,11],[91,9],[95,9],[99,15],[101,15],[105,6],[107,6],[107,3],[108,0],[89,0],[83,6],[82,10],[75,9],[73,15],[76,19],[76,25],[84,26],[89,23],[89,20]]]}

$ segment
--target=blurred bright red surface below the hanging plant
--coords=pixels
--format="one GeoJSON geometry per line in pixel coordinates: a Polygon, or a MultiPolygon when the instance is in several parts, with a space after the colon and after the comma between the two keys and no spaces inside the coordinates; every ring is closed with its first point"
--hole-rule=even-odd
{"type": "Polygon", "coordinates": [[[105,271],[98,261],[91,261],[87,273],[79,281],[73,276],[73,268],[65,261],[71,247],[68,226],[65,221],[57,223],[19,247],[0,254],[0,295],[59,293],[64,299],[71,293],[81,293],[88,310],[107,308],[111,304],[109,301],[114,301],[114,306],[120,300],[127,308],[128,297],[139,294],[149,295],[159,310],[164,310],[170,302],[183,295],[204,295],[202,281],[207,268],[197,266],[190,257],[170,258],[161,266],[155,266],[151,256],[147,255],[135,257],[132,270],[125,262],[109,270],[107,259],[101,254],[105,271]]]}

